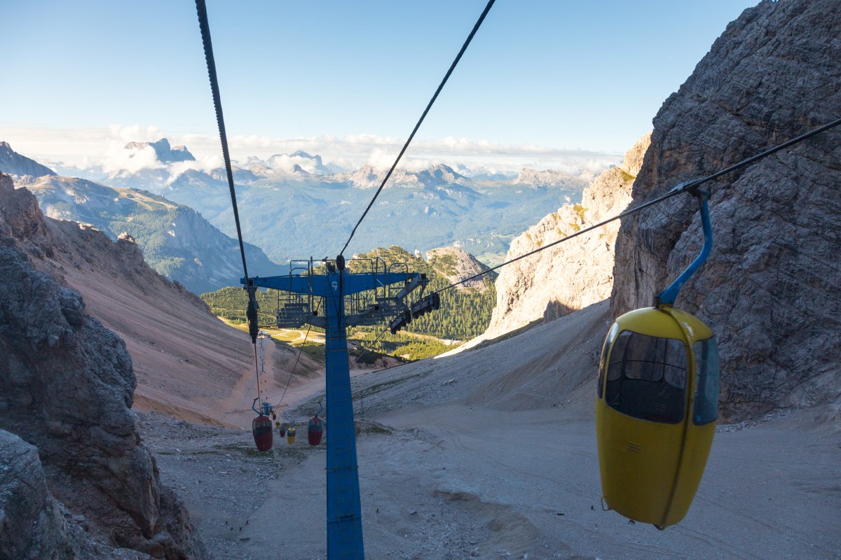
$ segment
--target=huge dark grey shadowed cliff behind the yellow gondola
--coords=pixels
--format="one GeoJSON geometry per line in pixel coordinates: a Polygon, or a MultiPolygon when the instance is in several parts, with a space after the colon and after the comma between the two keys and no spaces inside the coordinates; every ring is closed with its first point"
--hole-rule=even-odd
{"type": "MultiPolygon", "coordinates": [[[[835,0],[745,10],[654,118],[635,203],[838,118],[838,37],[835,0]]],[[[677,306],[717,332],[726,418],[839,399],[839,161],[834,129],[708,185],[715,244],[677,306]]],[[[700,247],[690,196],[624,220],[614,317],[650,306],[700,247]]]]}

